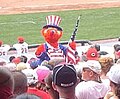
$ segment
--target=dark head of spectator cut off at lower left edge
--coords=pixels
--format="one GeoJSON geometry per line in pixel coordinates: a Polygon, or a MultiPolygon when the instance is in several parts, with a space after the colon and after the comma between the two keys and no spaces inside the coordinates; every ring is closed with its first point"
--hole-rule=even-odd
{"type": "Polygon", "coordinates": [[[0,67],[0,99],[9,99],[13,95],[14,79],[8,68],[0,67]]]}

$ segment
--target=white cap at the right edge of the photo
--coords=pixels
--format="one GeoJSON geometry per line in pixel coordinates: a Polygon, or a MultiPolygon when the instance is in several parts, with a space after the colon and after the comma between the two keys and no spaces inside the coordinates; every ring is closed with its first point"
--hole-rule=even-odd
{"type": "Polygon", "coordinates": [[[116,83],[116,84],[120,84],[120,66],[119,64],[114,64],[110,71],[107,74],[108,78],[116,83]]]}

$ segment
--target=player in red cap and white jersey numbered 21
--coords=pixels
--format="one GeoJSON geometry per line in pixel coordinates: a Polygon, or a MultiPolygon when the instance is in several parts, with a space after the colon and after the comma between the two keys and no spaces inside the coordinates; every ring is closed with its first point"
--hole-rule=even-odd
{"type": "Polygon", "coordinates": [[[27,56],[28,54],[28,44],[25,42],[24,37],[19,36],[17,38],[18,43],[14,44],[13,47],[17,51],[17,56],[25,55],[27,56]]]}

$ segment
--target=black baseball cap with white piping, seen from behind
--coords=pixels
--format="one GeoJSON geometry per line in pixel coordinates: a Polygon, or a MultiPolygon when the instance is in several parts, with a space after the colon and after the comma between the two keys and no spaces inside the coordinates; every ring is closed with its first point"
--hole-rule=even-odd
{"type": "Polygon", "coordinates": [[[76,84],[77,74],[74,65],[61,64],[53,68],[53,83],[68,88],[76,84]]]}

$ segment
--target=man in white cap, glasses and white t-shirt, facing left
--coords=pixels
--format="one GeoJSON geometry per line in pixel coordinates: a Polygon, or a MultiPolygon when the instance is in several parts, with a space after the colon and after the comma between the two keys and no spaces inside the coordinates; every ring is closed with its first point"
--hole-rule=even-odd
{"type": "Polygon", "coordinates": [[[102,99],[109,86],[100,80],[101,65],[96,60],[88,60],[82,69],[82,79],[75,89],[78,99],[102,99]]]}

